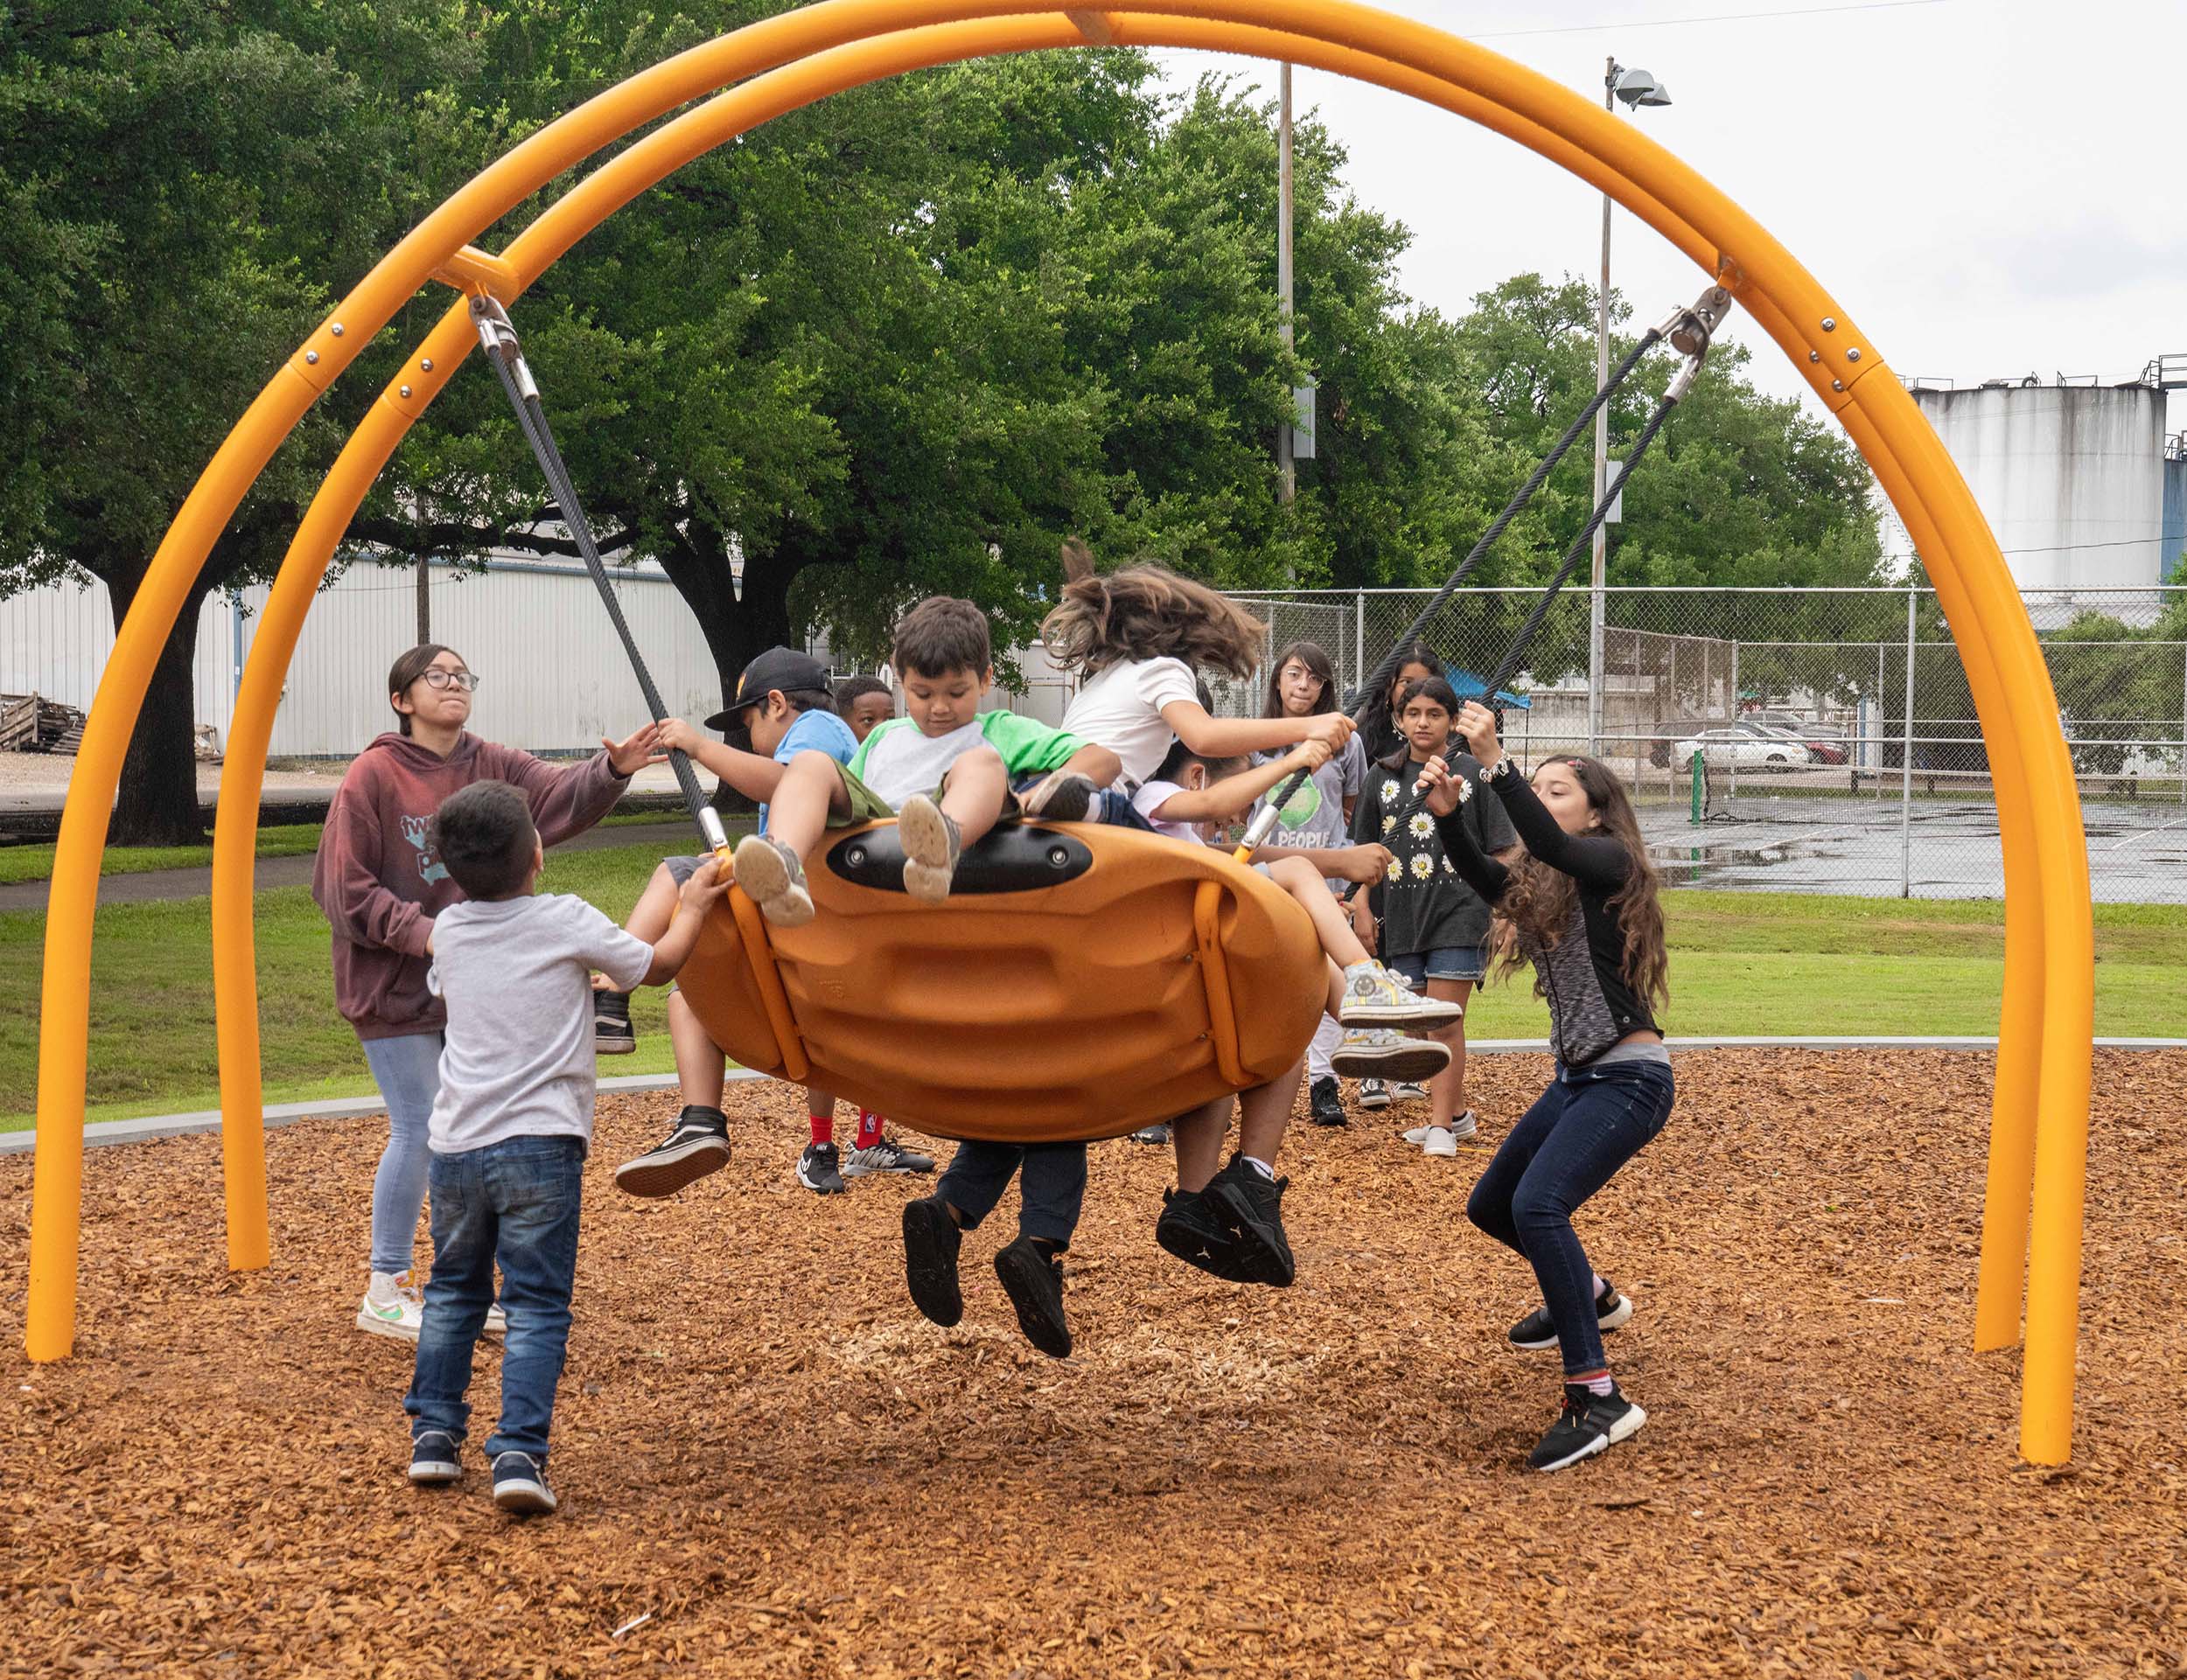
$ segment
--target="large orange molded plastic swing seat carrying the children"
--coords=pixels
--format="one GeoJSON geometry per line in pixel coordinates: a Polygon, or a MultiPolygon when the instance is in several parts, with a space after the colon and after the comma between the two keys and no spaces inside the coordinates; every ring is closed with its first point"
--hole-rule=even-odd
{"type": "Polygon", "coordinates": [[[772,928],[733,888],[678,989],[746,1068],[936,1138],[1122,1138],[1284,1074],[1321,1022],[1312,921],[1212,847],[1006,825],[932,906],[870,822],[805,875],[814,921],[772,928]]]}

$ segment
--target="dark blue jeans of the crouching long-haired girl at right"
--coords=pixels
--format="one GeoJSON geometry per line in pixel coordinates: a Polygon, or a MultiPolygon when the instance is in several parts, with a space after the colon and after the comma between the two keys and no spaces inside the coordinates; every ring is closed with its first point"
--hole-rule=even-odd
{"type": "Polygon", "coordinates": [[[1572,1234],[1572,1212],[1662,1131],[1675,1098],[1671,1070],[1656,1061],[1559,1068],[1465,1203],[1474,1225],[1533,1267],[1566,1376],[1605,1363],[1594,1267],[1572,1234]]]}

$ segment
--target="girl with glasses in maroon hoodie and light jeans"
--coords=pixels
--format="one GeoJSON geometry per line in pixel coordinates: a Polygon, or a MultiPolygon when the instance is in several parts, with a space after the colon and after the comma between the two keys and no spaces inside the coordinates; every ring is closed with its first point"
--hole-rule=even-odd
{"type": "Polygon", "coordinates": [[[625,742],[604,739],[584,763],[560,768],[481,742],[464,731],[477,685],[464,656],[437,643],[394,663],[387,702],[398,726],[350,763],[326,812],[311,877],[311,895],[335,930],[335,1006],[356,1028],[387,1100],[387,1148],[372,1181],[372,1286],[356,1328],[407,1341],[418,1339],[424,1317],[409,1269],[448,1022],[426,989],[433,917],[464,897],[433,855],[426,825],[457,788],[507,781],[525,792],[531,822],[551,847],[593,827],[621,798],[630,772],[658,761],[656,724],[625,742]]]}

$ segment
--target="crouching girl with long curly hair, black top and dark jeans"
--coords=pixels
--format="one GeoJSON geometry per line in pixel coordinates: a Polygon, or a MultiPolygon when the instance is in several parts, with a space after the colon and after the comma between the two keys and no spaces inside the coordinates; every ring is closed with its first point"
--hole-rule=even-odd
{"type": "Polygon", "coordinates": [[[1653,1013],[1669,998],[1662,903],[1632,798],[1599,759],[1553,757],[1527,781],[1487,707],[1467,700],[1459,733],[1483,766],[1476,779],[1437,757],[1417,785],[1452,866],[1511,934],[1505,971],[1533,965],[1557,1054],[1557,1076],[1474,1183],[1465,1216],[1522,1253],[1542,1288],[1542,1310],[1509,1339],[1564,1354],[1564,1409],[1529,1457],[1562,1470],[1647,1422],[1603,1356],[1603,1332],[1632,1302],[1588,1264],[1572,1212],[1662,1131],[1677,1096],[1653,1013]],[[1476,796],[1511,814],[1516,862],[1487,858],[1457,820],[1476,796]]]}

